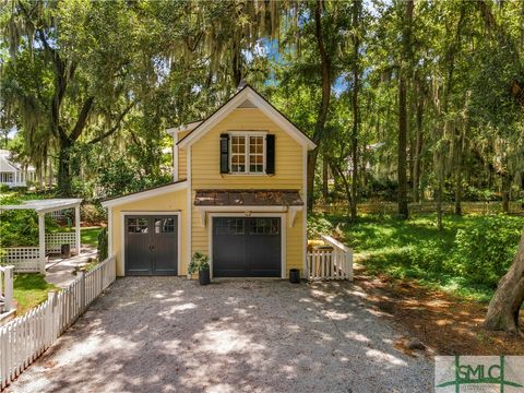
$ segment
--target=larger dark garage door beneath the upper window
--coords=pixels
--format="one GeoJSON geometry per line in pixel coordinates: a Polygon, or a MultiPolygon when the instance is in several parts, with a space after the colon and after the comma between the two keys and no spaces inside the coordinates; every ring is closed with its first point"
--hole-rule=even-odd
{"type": "Polygon", "coordinates": [[[214,277],[281,277],[281,218],[213,218],[214,277]]]}

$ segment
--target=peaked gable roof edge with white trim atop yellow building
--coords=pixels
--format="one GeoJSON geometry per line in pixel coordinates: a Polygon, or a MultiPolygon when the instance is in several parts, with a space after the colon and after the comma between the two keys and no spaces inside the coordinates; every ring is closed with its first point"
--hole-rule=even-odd
{"type": "MultiPolygon", "coordinates": [[[[200,124],[194,127],[191,132],[184,138],[182,138],[177,144],[181,147],[192,145],[209,130],[211,130],[215,124],[226,118],[227,115],[229,115],[238,107],[259,108],[265,116],[267,116],[278,127],[286,131],[298,143],[307,146],[308,150],[313,150],[314,147],[317,147],[315,143],[311,139],[309,139],[302,131],[300,131],[297,126],[295,126],[288,118],[286,118],[281,111],[278,111],[278,109],[271,105],[264,97],[262,97],[254,88],[252,88],[248,84],[239,92],[237,92],[237,94],[235,94],[231,98],[229,98],[229,100],[226,102],[222,107],[219,107],[213,115],[211,115],[200,124]]],[[[191,124],[195,123],[196,122],[193,122],[191,124]]],[[[188,124],[188,127],[189,126],[190,124],[188,124]]],[[[184,130],[187,131],[188,129],[184,130]]]]}

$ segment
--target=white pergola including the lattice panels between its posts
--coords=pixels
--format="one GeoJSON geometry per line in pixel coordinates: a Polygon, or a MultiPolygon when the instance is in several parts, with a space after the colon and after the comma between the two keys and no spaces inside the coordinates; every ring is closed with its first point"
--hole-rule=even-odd
{"type": "Polygon", "coordinates": [[[34,210],[38,214],[38,262],[35,263],[35,247],[16,247],[4,249],[2,263],[14,265],[16,272],[46,272],[46,254],[48,252],[60,251],[58,247],[64,243],[71,245],[81,251],[80,242],[80,204],[82,199],[48,199],[25,201],[19,205],[0,205],[0,211],[7,210],[34,210]],[[74,233],[70,234],[49,234],[49,248],[46,247],[46,213],[59,212],[67,209],[74,209],[74,233]],[[72,240],[74,236],[74,241],[72,240]],[[58,241],[64,240],[60,245],[58,241]]]}

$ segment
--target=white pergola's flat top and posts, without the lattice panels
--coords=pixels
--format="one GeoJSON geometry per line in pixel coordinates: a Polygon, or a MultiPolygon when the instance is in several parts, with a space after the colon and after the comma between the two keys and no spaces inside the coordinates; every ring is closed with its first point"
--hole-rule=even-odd
{"type": "Polygon", "coordinates": [[[46,213],[58,212],[74,207],[74,236],[76,253],[80,254],[80,204],[82,199],[46,199],[24,201],[16,205],[0,205],[0,212],[7,210],[33,210],[38,214],[38,260],[39,271],[45,273],[46,270],[46,213]]]}

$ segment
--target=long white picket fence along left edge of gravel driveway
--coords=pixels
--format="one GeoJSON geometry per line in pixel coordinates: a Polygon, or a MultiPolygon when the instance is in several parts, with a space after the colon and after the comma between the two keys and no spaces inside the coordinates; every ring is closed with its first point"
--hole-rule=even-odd
{"type": "Polygon", "coordinates": [[[5,388],[85,311],[116,278],[115,257],[80,273],[66,289],[0,327],[0,388],[5,388]]]}

